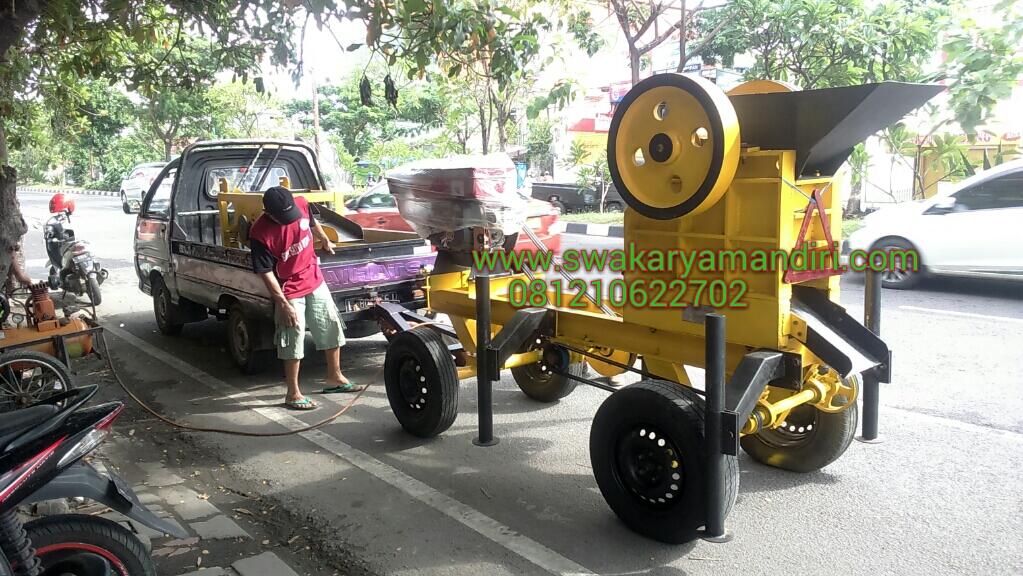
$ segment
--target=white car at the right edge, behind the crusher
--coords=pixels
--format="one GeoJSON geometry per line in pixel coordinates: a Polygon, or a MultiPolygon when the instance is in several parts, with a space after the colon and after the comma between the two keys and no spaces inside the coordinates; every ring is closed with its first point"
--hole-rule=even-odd
{"type": "Polygon", "coordinates": [[[1023,160],[868,214],[847,248],[917,251],[918,270],[883,271],[885,287],[913,287],[924,274],[1023,280],[1023,160]]]}

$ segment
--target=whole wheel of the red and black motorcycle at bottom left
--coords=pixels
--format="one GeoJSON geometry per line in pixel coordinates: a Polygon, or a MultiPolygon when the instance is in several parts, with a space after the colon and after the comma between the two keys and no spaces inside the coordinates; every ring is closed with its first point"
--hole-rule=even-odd
{"type": "Polygon", "coordinates": [[[104,518],[48,516],[25,525],[46,574],[155,576],[145,546],[130,530],[104,518]]]}

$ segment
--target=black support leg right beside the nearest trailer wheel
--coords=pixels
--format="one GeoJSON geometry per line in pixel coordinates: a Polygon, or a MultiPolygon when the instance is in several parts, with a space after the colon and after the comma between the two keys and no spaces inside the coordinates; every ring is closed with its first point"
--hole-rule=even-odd
{"type": "Polygon", "coordinates": [[[706,485],[707,491],[707,525],[704,528],[703,539],[709,542],[727,542],[731,535],[724,529],[725,508],[728,504],[724,493],[725,458],[723,450],[722,415],[724,412],[724,316],[707,314],[704,319],[706,328],[706,367],[707,396],[704,404],[706,435],[706,485]]]}

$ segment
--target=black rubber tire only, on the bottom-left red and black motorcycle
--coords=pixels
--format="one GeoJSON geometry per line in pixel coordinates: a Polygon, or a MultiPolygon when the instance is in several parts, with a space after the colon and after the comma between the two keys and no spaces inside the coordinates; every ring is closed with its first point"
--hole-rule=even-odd
{"type": "Polygon", "coordinates": [[[142,542],[124,526],[104,518],[80,514],[48,516],[26,524],[25,530],[42,561],[44,573],[64,573],[56,567],[69,551],[74,551],[53,549],[53,546],[86,544],[110,561],[118,576],[157,575],[157,567],[142,542]]]}

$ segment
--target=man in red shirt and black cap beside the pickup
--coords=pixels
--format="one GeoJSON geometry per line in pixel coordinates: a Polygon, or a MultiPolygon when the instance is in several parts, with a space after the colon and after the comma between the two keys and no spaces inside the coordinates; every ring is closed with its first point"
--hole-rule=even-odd
{"type": "Polygon", "coordinates": [[[274,302],[274,341],[277,357],[284,362],[284,383],[287,385],[284,405],[296,410],[316,407],[299,388],[299,364],[305,354],[307,326],[316,349],[326,354],[325,390],[354,390],[341,373],[345,333],[338,307],[319,269],[314,236],[333,254],[333,246],[312,217],[306,198],[294,197],[287,188],[280,186],[263,193],[263,215],[249,232],[253,270],[262,276],[274,302]]]}

